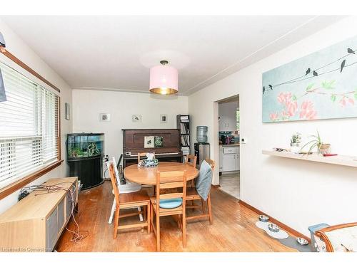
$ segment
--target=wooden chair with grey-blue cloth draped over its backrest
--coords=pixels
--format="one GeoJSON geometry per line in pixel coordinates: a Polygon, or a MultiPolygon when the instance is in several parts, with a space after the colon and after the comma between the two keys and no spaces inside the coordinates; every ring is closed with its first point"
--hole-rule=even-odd
{"type": "MultiPolygon", "coordinates": [[[[209,223],[213,224],[212,208],[211,208],[211,183],[216,163],[212,159],[205,159],[201,163],[201,169],[196,178],[196,186],[187,189],[186,201],[201,200],[202,214],[187,216],[186,220],[209,219],[209,223]],[[204,202],[207,203],[208,213],[205,213],[204,202]]],[[[200,208],[198,205],[186,206],[187,209],[200,208]]]]}

